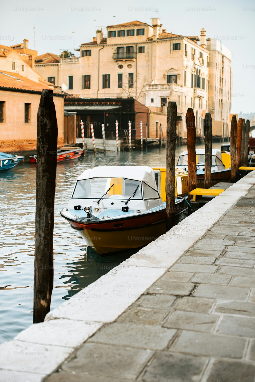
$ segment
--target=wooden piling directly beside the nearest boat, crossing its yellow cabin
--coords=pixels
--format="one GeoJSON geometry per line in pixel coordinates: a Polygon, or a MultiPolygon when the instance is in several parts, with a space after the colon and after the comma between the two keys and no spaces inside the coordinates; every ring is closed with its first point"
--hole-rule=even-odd
{"type": "MultiPolygon", "coordinates": [[[[166,230],[175,223],[176,102],[168,102],[166,112],[166,230]]],[[[161,136],[161,134],[160,134],[161,136]]]]}

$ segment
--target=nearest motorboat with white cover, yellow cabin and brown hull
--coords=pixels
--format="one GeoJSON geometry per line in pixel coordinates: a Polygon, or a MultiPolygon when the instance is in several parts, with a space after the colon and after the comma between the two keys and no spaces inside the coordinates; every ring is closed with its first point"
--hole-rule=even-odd
{"type": "MultiPolygon", "coordinates": [[[[85,170],[60,214],[99,254],[144,246],[166,233],[165,171],[147,166],[85,170]]],[[[178,215],[187,209],[187,173],[180,169],[176,176],[178,215]]]]}

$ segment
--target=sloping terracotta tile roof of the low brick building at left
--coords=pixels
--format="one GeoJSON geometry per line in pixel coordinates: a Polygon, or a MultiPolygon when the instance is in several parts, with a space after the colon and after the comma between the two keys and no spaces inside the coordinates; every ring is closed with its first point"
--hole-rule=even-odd
{"type": "Polygon", "coordinates": [[[0,70],[0,88],[33,90],[41,92],[42,89],[51,89],[51,87],[32,81],[18,73],[1,71],[0,70]]]}

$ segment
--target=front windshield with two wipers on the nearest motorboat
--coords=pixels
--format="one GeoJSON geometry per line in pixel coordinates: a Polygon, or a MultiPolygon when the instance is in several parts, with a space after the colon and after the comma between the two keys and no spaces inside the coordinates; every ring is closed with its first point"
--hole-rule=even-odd
{"type": "Polygon", "coordinates": [[[128,199],[129,197],[130,200],[142,199],[140,181],[127,178],[78,180],[72,196],[73,199],[128,199]],[[135,191],[135,195],[132,196],[135,191]]]}

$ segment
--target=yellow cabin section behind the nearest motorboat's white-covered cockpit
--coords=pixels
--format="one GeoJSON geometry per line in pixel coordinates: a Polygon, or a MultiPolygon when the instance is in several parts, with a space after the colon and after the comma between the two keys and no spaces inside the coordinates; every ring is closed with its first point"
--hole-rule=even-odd
{"type": "MultiPolygon", "coordinates": [[[[153,167],[158,192],[163,202],[166,201],[166,168],[153,167]]],[[[182,168],[175,169],[175,196],[188,194],[188,173],[182,168]]]]}

